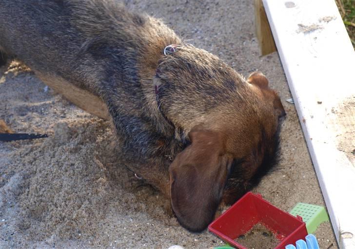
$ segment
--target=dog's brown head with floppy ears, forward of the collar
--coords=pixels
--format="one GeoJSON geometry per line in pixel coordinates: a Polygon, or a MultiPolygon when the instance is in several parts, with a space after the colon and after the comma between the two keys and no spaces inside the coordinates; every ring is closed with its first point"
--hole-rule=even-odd
{"type": "Polygon", "coordinates": [[[164,56],[155,83],[161,111],[189,141],[169,168],[172,208],[202,231],[222,196],[233,203],[273,164],[285,111],[262,73],[246,80],[194,47],[164,56]]]}

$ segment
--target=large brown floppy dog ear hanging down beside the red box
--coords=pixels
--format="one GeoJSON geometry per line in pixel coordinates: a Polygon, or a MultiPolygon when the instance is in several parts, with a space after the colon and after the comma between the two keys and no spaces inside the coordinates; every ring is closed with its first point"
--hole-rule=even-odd
{"type": "Polygon", "coordinates": [[[232,159],[215,131],[191,131],[191,144],[169,167],[171,204],[180,224],[202,231],[213,220],[232,159]]]}

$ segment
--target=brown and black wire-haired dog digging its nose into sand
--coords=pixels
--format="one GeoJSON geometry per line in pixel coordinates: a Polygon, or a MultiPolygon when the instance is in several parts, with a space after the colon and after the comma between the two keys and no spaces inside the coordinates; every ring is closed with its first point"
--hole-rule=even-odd
{"type": "Polygon", "coordinates": [[[112,121],[120,162],[203,231],[276,163],[286,115],[247,79],[115,0],[1,0],[2,63],[16,57],[72,103],[112,121]],[[14,15],[17,15],[16,18],[14,15]]]}

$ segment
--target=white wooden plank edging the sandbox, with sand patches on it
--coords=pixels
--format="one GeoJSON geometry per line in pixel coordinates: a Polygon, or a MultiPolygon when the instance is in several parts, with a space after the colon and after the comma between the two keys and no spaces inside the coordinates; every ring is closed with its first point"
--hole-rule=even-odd
{"type": "Polygon", "coordinates": [[[340,248],[355,248],[355,52],[334,0],[263,0],[340,248]]]}

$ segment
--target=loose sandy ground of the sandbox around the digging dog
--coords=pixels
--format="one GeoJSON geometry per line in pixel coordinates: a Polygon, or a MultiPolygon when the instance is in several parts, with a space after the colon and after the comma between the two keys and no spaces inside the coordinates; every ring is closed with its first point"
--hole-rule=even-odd
{"type": "MultiPolygon", "coordinates": [[[[162,18],[190,43],[217,54],[247,76],[260,70],[287,112],[279,164],[253,191],[285,211],[297,202],[324,206],[277,53],[260,57],[252,1],[125,1],[162,18]]],[[[0,119],[16,132],[49,138],[0,142],[0,248],[211,248],[165,213],[162,196],[115,159],[107,122],[73,106],[19,65],[0,68],[0,119]]],[[[316,231],[320,248],[335,237],[316,231]]],[[[258,245],[261,247],[261,245],[258,245]]],[[[256,245],[256,248],[258,248],[256,245]]]]}

